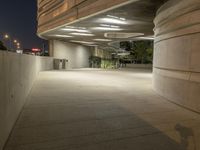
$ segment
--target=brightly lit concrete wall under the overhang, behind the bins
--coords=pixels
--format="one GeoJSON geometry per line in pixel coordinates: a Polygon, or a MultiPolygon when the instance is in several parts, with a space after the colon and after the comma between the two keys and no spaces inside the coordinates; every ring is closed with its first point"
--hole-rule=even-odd
{"type": "Polygon", "coordinates": [[[88,68],[91,48],[62,41],[53,41],[54,58],[67,59],[68,68],[88,68]]]}

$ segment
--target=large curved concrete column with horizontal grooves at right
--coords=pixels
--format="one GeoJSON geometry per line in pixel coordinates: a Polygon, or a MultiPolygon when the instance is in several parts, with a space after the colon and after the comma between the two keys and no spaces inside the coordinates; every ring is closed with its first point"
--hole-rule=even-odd
{"type": "Polygon", "coordinates": [[[170,0],[154,22],[154,89],[200,112],[200,0],[170,0]]]}

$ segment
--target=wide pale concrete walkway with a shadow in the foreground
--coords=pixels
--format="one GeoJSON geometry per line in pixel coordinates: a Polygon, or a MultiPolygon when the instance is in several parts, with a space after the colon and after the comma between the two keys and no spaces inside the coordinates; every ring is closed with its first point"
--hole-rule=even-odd
{"type": "Polygon", "coordinates": [[[5,150],[200,150],[200,115],[145,70],[40,73],[5,150]]]}

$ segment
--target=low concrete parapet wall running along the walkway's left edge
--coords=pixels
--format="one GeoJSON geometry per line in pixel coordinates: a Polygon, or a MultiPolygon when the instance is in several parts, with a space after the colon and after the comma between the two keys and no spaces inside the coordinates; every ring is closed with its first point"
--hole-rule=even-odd
{"type": "Polygon", "coordinates": [[[52,58],[0,51],[0,150],[39,71],[52,68],[52,58]]]}

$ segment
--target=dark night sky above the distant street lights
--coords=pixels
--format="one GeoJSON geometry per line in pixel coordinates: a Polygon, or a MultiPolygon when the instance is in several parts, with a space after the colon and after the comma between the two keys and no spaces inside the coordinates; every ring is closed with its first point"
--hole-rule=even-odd
{"type": "Polygon", "coordinates": [[[22,43],[23,48],[42,48],[43,40],[37,31],[36,0],[1,0],[0,37],[8,33],[22,43]]]}

